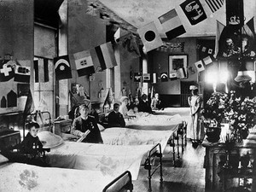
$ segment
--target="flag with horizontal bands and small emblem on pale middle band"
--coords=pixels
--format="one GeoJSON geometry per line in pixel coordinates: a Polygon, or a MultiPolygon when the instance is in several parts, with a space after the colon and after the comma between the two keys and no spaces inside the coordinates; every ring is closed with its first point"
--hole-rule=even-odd
{"type": "Polygon", "coordinates": [[[90,49],[73,55],[79,77],[95,73],[90,49]]]}

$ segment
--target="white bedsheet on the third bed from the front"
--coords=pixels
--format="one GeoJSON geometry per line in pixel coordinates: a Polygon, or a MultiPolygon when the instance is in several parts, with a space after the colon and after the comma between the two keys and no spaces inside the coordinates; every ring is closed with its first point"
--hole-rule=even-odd
{"type": "Polygon", "coordinates": [[[163,153],[166,144],[178,125],[167,131],[135,130],[124,127],[111,127],[101,132],[104,144],[109,145],[161,145],[163,153]]]}

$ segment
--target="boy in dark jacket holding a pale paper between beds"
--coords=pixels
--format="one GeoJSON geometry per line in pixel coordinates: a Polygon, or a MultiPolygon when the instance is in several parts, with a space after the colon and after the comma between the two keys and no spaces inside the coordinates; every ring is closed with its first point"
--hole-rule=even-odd
{"type": "Polygon", "coordinates": [[[73,120],[70,133],[83,137],[83,143],[103,143],[102,135],[96,124],[96,119],[89,116],[90,109],[86,104],[79,106],[80,116],[73,120]]]}

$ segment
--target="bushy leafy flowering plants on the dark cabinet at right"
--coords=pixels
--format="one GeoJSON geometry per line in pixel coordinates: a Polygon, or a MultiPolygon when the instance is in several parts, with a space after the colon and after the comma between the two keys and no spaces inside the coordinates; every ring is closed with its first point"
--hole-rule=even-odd
{"type": "Polygon", "coordinates": [[[220,123],[226,120],[230,125],[227,139],[241,142],[256,124],[256,100],[236,97],[234,90],[229,93],[214,92],[204,106],[202,116],[207,127],[220,127],[220,123]]]}

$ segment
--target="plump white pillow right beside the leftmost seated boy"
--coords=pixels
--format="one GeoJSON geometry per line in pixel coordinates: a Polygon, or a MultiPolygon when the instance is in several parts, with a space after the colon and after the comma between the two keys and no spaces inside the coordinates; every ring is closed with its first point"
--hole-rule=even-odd
{"type": "Polygon", "coordinates": [[[38,137],[44,148],[55,148],[64,143],[64,140],[60,136],[57,136],[50,131],[38,132],[38,137]]]}

